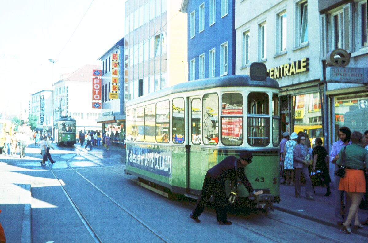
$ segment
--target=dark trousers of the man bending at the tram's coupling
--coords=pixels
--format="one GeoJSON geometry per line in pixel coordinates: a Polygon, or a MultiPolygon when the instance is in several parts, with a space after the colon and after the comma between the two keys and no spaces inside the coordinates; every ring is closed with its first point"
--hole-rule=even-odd
{"type": "Polygon", "coordinates": [[[198,217],[199,215],[201,215],[211,195],[213,195],[213,199],[215,201],[217,221],[226,222],[228,204],[225,192],[225,185],[222,185],[219,182],[215,181],[215,179],[213,179],[208,172],[203,182],[201,195],[199,195],[197,203],[195,204],[195,208],[192,212],[193,216],[198,217]]]}

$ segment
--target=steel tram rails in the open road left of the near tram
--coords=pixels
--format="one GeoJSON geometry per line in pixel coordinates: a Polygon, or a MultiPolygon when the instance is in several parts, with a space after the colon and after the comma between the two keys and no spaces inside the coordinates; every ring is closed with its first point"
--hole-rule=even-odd
{"type": "MultiPolygon", "coordinates": [[[[120,203],[118,203],[116,200],[114,200],[112,197],[110,197],[109,195],[107,195],[104,191],[102,191],[98,186],[96,186],[95,184],[93,184],[93,182],[91,182],[89,179],[87,179],[84,175],[82,175],[81,173],[79,173],[77,170],[75,170],[71,165],[70,162],[71,160],[76,157],[76,156],[81,156],[84,157],[83,155],[77,153],[75,156],[71,157],[70,159],[67,160],[66,164],[67,166],[73,170],[75,173],[77,173],[81,178],[83,178],[86,182],[88,182],[88,184],[92,185],[97,191],[99,191],[103,196],[105,196],[107,199],[109,199],[111,202],[113,202],[117,207],[119,207],[120,209],[122,209],[123,211],[125,211],[125,213],[127,213],[128,215],[130,215],[134,220],[136,220],[139,224],[141,224],[142,226],[144,226],[146,229],[148,229],[151,233],[153,233],[153,235],[155,235],[156,237],[158,237],[160,240],[162,240],[165,243],[172,243],[170,239],[168,239],[167,237],[163,236],[162,234],[160,234],[158,231],[156,231],[156,229],[152,228],[150,225],[148,225],[146,222],[144,222],[141,218],[139,218],[137,215],[135,215],[132,211],[128,210],[128,208],[124,207],[123,205],[121,205],[120,203]]],[[[97,157],[97,156],[96,156],[97,157]]],[[[86,157],[84,157],[85,159],[88,159],[86,157]]],[[[89,159],[88,159],[89,160],[89,159]]],[[[91,162],[93,162],[92,160],[89,160],[91,162]]],[[[95,162],[93,162],[95,163],[95,162]]],[[[98,163],[95,163],[98,164],[98,163]]],[[[102,166],[100,164],[98,164],[99,166],[102,166]]],[[[107,169],[109,169],[106,166],[102,166],[105,167],[107,169]]],[[[66,195],[68,201],[70,202],[71,206],[74,208],[75,212],[77,213],[78,217],[81,219],[81,221],[83,222],[83,224],[85,225],[85,227],[87,228],[88,232],[90,233],[90,235],[92,236],[93,240],[95,242],[98,243],[102,243],[102,240],[100,239],[100,237],[98,236],[97,232],[95,231],[95,229],[93,229],[91,223],[88,222],[87,218],[83,215],[82,211],[79,209],[79,207],[77,206],[77,204],[74,202],[74,200],[72,199],[72,197],[70,196],[70,194],[67,192],[65,186],[63,185],[63,183],[61,183],[60,179],[57,177],[55,171],[53,170],[52,166],[49,163],[49,168],[50,171],[52,172],[52,174],[54,175],[54,177],[59,181],[62,191],[64,192],[64,194],[66,195]]],[[[111,170],[111,169],[109,169],[111,170]]],[[[111,170],[113,171],[113,170],[111,170]]],[[[116,171],[113,171],[114,173],[117,173],[116,171]]],[[[119,174],[119,173],[117,173],[119,174]]],[[[119,174],[122,175],[122,174],[119,174]]]]}

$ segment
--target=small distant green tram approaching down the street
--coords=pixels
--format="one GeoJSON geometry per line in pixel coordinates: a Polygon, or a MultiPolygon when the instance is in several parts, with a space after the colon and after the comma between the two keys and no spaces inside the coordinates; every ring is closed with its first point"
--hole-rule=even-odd
{"type": "Polygon", "coordinates": [[[57,146],[73,146],[77,140],[77,123],[70,116],[57,120],[55,127],[55,142],[57,146]]]}

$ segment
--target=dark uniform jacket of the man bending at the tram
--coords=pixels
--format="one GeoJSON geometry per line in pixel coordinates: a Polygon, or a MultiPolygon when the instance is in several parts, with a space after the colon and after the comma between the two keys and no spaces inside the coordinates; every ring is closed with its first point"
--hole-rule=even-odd
{"type": "Polygon", "coordinates": [[[215,179],[216,182],[220,184],[225,184],[226,180],[237,181],[236,174],[239,179],[247,188],[249,193],[254,191],[252,185],[250,184],[248,178],[244,174],[244,167],[241,165],[240,161],[237,161],[237,171],[235,173],[235,165],[234,161],[236,160],[235,156],[229,156],[223,159],[220,163],[216,164],[212,168],[210,168],[207,172],[215,179]]]}

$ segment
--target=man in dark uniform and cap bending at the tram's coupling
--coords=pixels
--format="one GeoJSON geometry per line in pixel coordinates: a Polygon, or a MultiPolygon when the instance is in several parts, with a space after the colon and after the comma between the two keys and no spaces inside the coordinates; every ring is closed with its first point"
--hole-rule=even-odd
{"type": "Polygon", "coordinates": [[[223,159],[207,171],[205,176],[202,192],[199,195],[195,208],[189,217],[195,222],[201,222],[198,217],[206,207],[206,203],[213,195],[215,201],[216,218],[219,225],[230,225],[231,221],[227,220],[227,196],[225,192],[225,181],[235,181],[236,177],[241,179],[241,183],[251,195],[262,194],[262,191],[255,192],[248,178],[244,174],[244,167],[252,163],[252,154],[250,152],[241,152],[239,158],[229,156],[223,159]]]}

